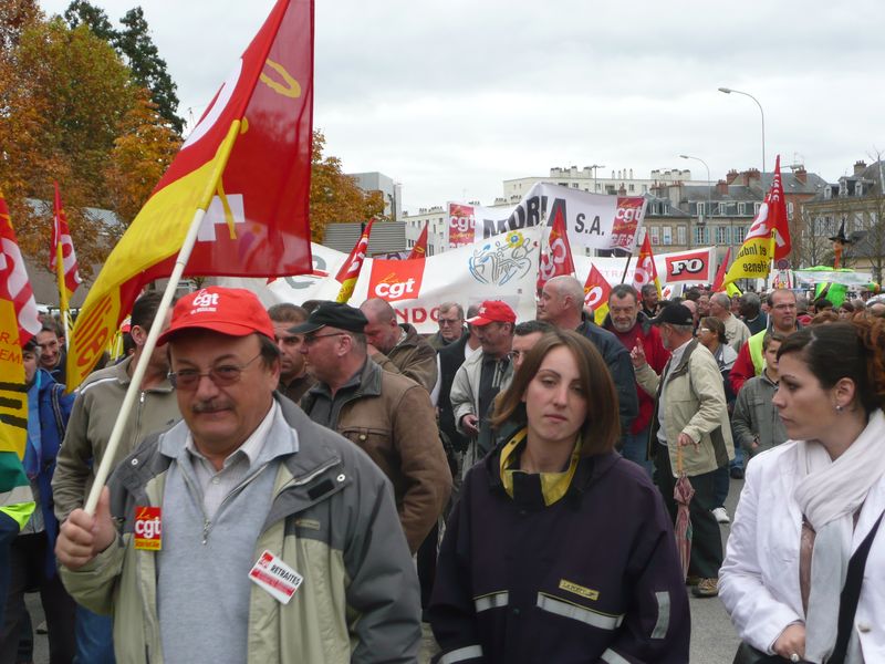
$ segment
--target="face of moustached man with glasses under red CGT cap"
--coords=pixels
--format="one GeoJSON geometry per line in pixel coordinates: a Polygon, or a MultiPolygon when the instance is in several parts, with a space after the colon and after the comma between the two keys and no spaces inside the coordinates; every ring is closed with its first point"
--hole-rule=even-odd
{"type": "Polygon", "coordinates": [[[257,334],[192,330],[169,341],[178,407],[198,448],[233,450],[268,414],[280,363],[260,351],[257,334]]]}

